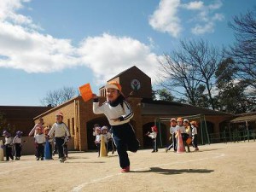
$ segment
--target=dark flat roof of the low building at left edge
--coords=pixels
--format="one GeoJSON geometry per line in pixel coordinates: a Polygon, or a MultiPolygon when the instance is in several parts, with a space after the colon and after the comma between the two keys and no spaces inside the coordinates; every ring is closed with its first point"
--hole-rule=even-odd
{"type": "Polygon", "coordinates": [[[4,119],[33,119],[52,107],[41,106],[0,106],[4,119]]]}

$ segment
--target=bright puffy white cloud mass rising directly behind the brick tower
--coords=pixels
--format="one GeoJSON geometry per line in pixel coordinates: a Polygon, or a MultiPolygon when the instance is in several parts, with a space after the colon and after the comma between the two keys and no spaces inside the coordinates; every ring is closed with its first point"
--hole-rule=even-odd
{"type": "MultiPolygon", "coordinates": [[[[129,37],[116,37],[104,33],[102,36],[85,38],[79,48],[82,61],[96,75],[97,84],[136,65],[154,78],[157,55],[148,45],[129,37]]],[[[154,79],[153,79],[154,81],[154,79]]]]}

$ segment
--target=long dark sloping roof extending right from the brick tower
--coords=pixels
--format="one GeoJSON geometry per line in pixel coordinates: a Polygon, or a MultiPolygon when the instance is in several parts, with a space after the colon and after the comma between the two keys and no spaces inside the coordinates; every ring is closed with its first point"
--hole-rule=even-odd
{"type": "Polygon", "coordinates": [[[233,115],[230,113],[224,113],[214,111],[207,108],[199,108],[189,104],[183,104],[179,102],[163,102],[153,101],[150,99],[142,100],[142,114],[143,115],[233,115]]]}

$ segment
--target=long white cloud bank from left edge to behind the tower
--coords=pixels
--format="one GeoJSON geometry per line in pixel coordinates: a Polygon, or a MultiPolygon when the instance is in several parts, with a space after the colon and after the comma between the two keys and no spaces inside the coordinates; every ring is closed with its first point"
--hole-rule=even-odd
{"type": "MultiPolygon", "coordinates": [[[[154,75],[157,55],[153,44],[109,34],[84,38],[79,46],[70,39],[43,34],[33,20],[16,13],[27,0],[0,1],[0,67],[27,73],[53,73],[67,67],[89,67],[98,84],[136,65],[154,75]]],[[[149,43],[152,43],[149,42],[149,43]]]]}

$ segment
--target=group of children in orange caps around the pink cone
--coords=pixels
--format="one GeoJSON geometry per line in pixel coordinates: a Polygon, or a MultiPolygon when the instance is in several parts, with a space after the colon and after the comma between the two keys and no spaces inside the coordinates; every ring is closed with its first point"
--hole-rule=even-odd
{"type": "Polygon", "coordinates": [[[195,151],[198,151],[198,145],[197,145],[197,128],[198,125],[196,121],[189,122],[188,119],[182,119],[182,118],[172,118],[170,120],[170,133],[171,137],[170,140],[172,140],[172,144],[166,147],[166,153],[171,148],[174,149],[174,152],[177,152],[177,134],[178,132],[182,136],[182,142],[183,147],[187,147],[187,152],[190,152],[189,145],[192,142],[192,146],[195,148],[195,151]]]}

